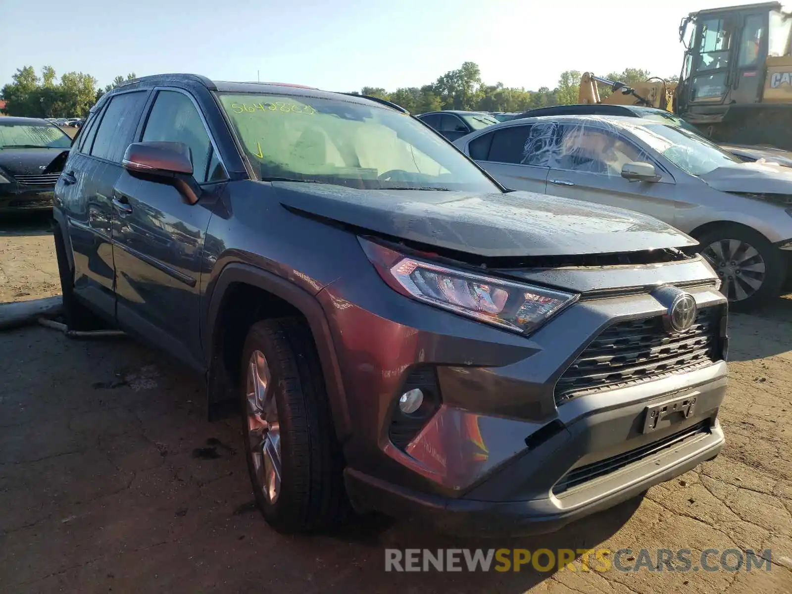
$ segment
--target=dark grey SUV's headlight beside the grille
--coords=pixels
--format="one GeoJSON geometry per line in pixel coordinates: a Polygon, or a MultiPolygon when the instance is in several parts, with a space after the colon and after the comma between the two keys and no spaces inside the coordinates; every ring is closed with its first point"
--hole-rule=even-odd
{"type": "Polygon", "coordinates": [[[394,290],[436,307],[528,334],[577,295],[446,268],[360,238],[379,276],[394,290]]]}

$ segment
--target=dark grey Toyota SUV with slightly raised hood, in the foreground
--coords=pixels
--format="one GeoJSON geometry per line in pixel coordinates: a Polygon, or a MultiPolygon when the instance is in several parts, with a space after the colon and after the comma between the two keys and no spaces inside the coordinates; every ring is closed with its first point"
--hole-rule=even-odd
{"type": "Polygon", "coordinates": [[[181,359],[210,411],[237,398],[280,531],[348,502],[550,531],[724,443],[726,300],[694,240],[507,192],[381,101],[139,78],[93,106],[56,196],[69,325],[181,359]]]}

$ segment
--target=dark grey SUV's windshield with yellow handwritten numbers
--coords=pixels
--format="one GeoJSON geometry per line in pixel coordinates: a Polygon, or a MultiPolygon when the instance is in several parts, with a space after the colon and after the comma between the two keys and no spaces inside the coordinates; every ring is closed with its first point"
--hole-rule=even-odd
{"type": "Polygon", "coordinates": [[[316,97],[219,97],[262,180],[360,189],[499,191],[440,135],[402,112],[316,97]]]}

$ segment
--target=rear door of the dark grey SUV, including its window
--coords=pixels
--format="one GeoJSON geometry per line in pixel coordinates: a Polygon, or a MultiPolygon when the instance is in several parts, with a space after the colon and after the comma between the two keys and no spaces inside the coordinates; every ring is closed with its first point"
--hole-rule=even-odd
{"type": "Polygon", "coordinates": [[[112,187],[148,95],[146,89],[110,97],[80,135],[57,190],[74,258],[74,293],[113,318],[112,187]]]}

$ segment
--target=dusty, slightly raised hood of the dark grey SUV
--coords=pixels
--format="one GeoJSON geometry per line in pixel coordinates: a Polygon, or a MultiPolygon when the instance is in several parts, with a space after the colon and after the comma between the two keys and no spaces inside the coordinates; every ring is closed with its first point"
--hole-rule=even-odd
{"type": "Polygon", "coordinates": [[[533,192],[272,185],[287,208],[482,257],[619,253],[696,245],[679,230],[649,216],[533,192]]]}

